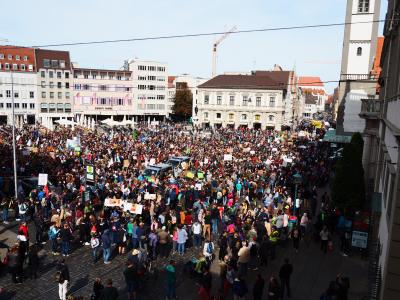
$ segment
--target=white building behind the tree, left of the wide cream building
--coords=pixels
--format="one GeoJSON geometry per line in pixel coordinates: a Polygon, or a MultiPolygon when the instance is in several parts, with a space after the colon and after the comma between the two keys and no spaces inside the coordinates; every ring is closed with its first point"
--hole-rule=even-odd
{"type": "Polygon", "coordinates": [[[170,112],[172,113],[172,106],[174,105],[174,98],[177,89],[182,89],[187,87],[193,95],[193,116],[194,107],[198,103],[198,86],[206,82],[208,79],[201,77],[194,77],[188,74],[178,75],[178,76],[168,76],[168,106],[170,112]]]}

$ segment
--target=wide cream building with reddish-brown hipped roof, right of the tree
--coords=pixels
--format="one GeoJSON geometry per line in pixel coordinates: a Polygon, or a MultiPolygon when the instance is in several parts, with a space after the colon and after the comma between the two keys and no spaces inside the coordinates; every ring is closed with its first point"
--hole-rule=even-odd
{"type": "Polygon", "coordinates": [[[285,86],[265,75],[219,75],[198,87],[194,124],[280,130],[285,86]]]}

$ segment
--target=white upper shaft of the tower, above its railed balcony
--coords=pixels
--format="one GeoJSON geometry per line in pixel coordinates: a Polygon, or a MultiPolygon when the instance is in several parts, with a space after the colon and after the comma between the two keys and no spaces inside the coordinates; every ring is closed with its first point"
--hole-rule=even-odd
{"type": "Polygon", "coordinates": [[[380,5],[381,0],[347,0],[341,80],[357,80],[361,77],[354,75],[372,70],[379,28],[379,22],[372,21],[379,20],[380,5]]]}

